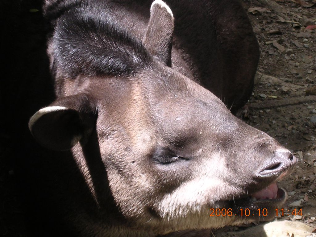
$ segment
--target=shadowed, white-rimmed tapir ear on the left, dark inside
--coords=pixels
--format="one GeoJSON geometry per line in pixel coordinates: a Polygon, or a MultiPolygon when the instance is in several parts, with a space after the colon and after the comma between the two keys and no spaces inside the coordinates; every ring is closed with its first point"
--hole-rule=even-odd
{"type": "Polygon", "coordinates": [[[96,108],[83,94],[58,98],[29,120],[33,137],[52,150],[68,150],[84,143],[95,126],[96,108]]]}

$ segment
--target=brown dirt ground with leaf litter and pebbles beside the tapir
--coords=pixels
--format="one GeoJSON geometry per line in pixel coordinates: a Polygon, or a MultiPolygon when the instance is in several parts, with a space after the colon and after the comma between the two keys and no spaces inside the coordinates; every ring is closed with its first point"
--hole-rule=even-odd
{"type": "Polygon", "coordinates": [[[316,1],[274,2],[287,20],[263,1],[243,1],[261,56],[252,97],[238,117],[274,137],[299,159],[293,173],[278,185],[289,193],[284,210],[302,208],[303,215],[286,213],[278,221],[316,228],[316,29],[305,28],[316,24],[316,6],[309,7],[316,1]]]}

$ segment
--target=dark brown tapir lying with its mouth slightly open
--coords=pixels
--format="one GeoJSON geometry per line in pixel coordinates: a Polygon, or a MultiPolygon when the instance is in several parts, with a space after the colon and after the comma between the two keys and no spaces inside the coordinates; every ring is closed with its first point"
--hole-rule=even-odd
{"type": "Polygon", "coordinates": [[[297,159],[233,115],[259,58],[238,1],[43,9],[56,100],[29,120],[45,149],[41,236],[198,236],[276,216],[297,159]]]}

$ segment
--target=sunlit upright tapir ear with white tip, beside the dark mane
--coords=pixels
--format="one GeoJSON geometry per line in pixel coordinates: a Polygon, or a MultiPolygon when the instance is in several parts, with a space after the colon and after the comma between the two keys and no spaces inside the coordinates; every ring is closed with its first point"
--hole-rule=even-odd
{"type": "Polygon", "coordinates": [[[173,14],[161,0],[155,0],[150,7],[150,20],[143,44],[151,55],[171,67],[171,48],[173,34],[173,14]]]}

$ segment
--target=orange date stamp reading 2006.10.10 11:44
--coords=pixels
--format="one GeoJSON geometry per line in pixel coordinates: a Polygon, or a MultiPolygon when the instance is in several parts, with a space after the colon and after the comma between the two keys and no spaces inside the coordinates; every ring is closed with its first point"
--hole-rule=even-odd
{"type": "MultiPolygon", "coordinates": [[[[303,216],[302,209],[288,210],[284,208],[277,208],[274,210],[276,216],[303,216]]],[[[251,211],[249,208],[241,208],[238,210],[238,213],[234,213],[232,208],[211,208],[210,216],[268,216],[268,209],[258,208],[256,211],[251,211]]]]}

